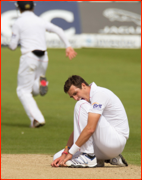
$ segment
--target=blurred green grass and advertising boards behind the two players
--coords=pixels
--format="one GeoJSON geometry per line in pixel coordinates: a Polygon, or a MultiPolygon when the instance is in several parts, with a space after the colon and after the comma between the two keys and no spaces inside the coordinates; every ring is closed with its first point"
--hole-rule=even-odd
{"type": "Polygon", "coordinates": [[[66,145],[73,130],[75,101],[63,91],[73,74],[112,90],[126,109],[130,137],[123,151],[129,164],[141,164],[141,2],[35,1],[35,14],[64,29],[78,53],[65,57],[59,38],[46,34],[49,92],[35,97],[46,125],[30,121],[16,94],[20,47],[7,45],[20,13],[15,1],[1,2],[1,153],[51,154],[66,145]]]}

